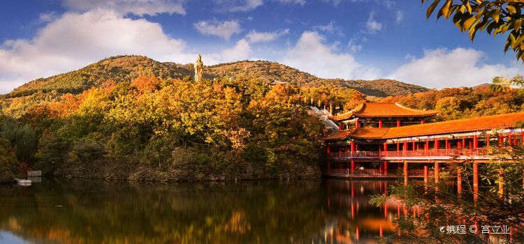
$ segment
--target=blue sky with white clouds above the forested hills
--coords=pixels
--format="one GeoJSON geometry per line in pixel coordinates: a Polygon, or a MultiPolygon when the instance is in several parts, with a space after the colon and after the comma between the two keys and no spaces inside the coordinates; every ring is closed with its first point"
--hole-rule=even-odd
{"type": "Polygon", "coordinates": [[[425,18],[419,0],[3,0],[0,93],[108,56],[284,63],[322,78],[475,86],[523,73],[504,36],[425,18]]]}

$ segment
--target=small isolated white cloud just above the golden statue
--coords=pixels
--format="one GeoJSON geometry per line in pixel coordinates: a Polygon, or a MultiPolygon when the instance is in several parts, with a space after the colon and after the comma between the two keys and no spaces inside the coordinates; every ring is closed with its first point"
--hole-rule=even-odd
{"type": "Polygon", "coordinates": [[[242,31],[240,24],[235,20],[224,22],[218,22],[217,20],[200,21],[194,23],[193,26],[204,35],[218,36],[224,38],[224,40],[229,40],[233,34],[242,31]]]}

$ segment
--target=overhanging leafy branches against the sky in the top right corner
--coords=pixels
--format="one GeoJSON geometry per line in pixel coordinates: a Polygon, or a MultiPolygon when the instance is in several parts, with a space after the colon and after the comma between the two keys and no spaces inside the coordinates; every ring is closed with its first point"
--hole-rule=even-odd
{"type": "Polygon", "coordinates": [[[477,31],[487,31],[493,36],[507,33],[504,52],[510,47],[516,52],[516,59],[524,61],[524,28],[521,0],[421,0],[422,3],[432,2],[428,6],[426,17],[437,10],[437,19],[444,17],[463,32],[470,33],[470,39],[475,38],[477,31]],[[453,16],[453,17],[452,17],[453,16]]]}

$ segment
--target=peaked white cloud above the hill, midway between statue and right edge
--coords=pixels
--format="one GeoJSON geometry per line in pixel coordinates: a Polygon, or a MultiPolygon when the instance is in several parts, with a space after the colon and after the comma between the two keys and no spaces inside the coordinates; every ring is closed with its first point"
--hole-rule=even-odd
{"type": "Polygon", "coordinates": [[[314,31],[306,31],[288,50],[282,63],[324,78],[377,79],[379,70],[358,63],[354,56],[337,53],[314,31]]]}

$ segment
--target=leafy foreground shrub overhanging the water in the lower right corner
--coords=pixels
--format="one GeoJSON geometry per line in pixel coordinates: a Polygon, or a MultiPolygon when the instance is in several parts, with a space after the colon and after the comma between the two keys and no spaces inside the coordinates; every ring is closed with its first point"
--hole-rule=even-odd
{"type": "MultiPolygon", "coordinates": [[[[524,148],[504,146],[490,148],[493,160],[479,164],[479,188],[472,185],[473,162],[451,163],[453,174],[460,170],[463,178],[461,193],[457,191],[456,178],[442,177],[439,183],[428,185],[397,183],[391,195],[402,199],[408,207],[419,207],[418,215],[406,215],[395,220],[400,235],[388,239],[409,243],[521,243],[524,241],[523,155],[524,148]],[[502,174],[500,174],[502,172],[502,174]],[[447,180],[447,181],[446,181],[447,180]],[[454,184],[450,184],[453,183],[454,184]],[[500,192],[500,183],[503,192],[500,192]],[[441,227],[476,225],[479,233],[469,229],[464,234],[442,233],[441,227]],[[482,226],[511,227],[511,234],[481,234],[482,226]],[[491,241],[490,241],[491,240],[491,241]]],[[[375,196],[374,203],[381,203],[384,196],[375,196]]],[[[444,229],[444,232],[446,230],[444,229]]]]}

